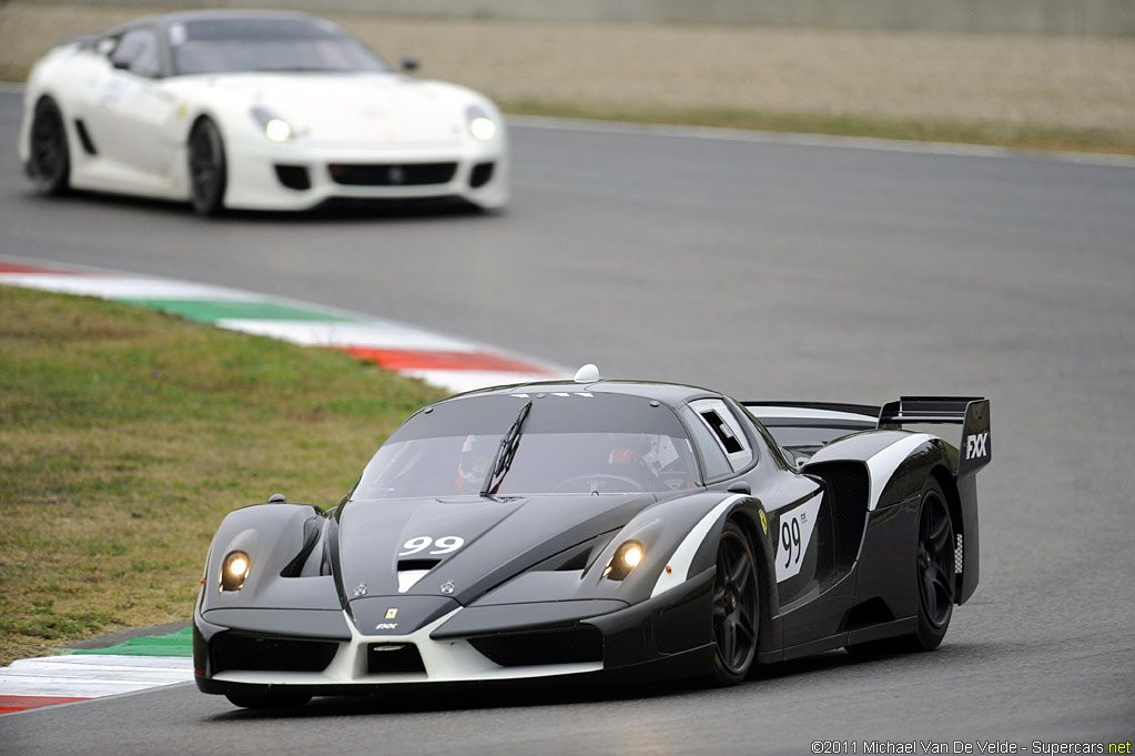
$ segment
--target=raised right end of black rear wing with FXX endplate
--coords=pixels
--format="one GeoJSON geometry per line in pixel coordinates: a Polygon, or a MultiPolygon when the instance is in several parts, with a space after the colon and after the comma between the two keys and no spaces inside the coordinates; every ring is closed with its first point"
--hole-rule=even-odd
{"type": "Polygon", "coordinates": [[[961,426],[958,478],[974,474],[993,460],[990,401],[983,396],[903,396],[878,411],[880,428],[941,422],[961,426]]]}

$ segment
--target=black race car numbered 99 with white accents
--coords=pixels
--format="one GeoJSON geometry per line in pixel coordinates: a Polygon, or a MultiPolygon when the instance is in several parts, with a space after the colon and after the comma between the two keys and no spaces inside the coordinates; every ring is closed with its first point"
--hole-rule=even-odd
{"type": "Polygon", "coordinates": [[[977,586],[989,413],[735,402],[594,366],[447,398],[338,506],[277,495],[225,518],[197,687],[292,706],[592,673],[732,684],[832,648],[935,648],[977,586]],[[960,423],[960,451],[915,423],[960,423]]]}

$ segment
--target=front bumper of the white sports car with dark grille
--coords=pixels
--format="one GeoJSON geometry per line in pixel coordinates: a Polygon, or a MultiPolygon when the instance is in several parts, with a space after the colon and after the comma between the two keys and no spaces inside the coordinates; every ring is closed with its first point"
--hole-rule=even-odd
{"type": "Polygon", "coordinates": [[[305,210],[336,200],[443,198],[496,209],[508,201],[508,154],[503,140],[376,148],[272,144],[261,138],[229,144],[227,163],[225,205],[238,210],[305,210]],[[429,170],[431,166],[444,168],[429,170]]]}

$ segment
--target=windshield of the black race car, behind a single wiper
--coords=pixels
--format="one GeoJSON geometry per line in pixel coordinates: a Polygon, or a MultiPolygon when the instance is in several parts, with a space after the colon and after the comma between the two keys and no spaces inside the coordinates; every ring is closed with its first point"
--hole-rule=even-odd
{"type": "Polygon", "coordinates": [[[367,465],[353,498],[479,495],[502,438],[528,401],[532,409],[515,456],[493,488],[496,496],[662,493],[697,485],[690,440],[670,408],[637,396],[491,395],[445,402],[411,418],[367,465]]]}

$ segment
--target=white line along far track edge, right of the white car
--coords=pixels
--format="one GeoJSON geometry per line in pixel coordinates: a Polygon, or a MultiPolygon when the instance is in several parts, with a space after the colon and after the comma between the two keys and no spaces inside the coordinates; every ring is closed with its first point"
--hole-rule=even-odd
{"type": "Polygon", "coordinates": [[[1135,168],[1135,158],[1123,154],[1092,152],[1048,152],[1023,150],[984,144],[959,144],[955,142],[918,142],[914,140],[886,140],[872,136],[834,136],[827,134],[804,134],[797,132],[762,132],[747,128],[722,126],[679,126],[670,124],[638,124],[631,121],[592,120],[586,118],[553,118],[546,116],[507,116],[508,125],[521,128],[545,128],[599,134],[624,134],[631,136],[665,136],[689,140],[713,140],[718,142],[749,142],[755,144],[789,144],[841,150],[873,150],[876,152],[902,152],[910,154],[936,154],[967,158],[1009,158],[1015,160],[1057,160],[1088,166],[1115,166],[1135,168]]]}

